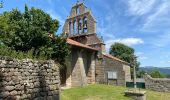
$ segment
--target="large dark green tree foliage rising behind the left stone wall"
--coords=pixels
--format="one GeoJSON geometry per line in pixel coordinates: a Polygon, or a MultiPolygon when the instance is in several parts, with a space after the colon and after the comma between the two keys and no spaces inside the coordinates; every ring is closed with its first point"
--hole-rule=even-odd
{"type": "Polygon", "coordinates": [[[13,9],[0,15],[0,43],[12,50],[33,50],[35,56],[44,55],[63,62],[69,50],[66,39],[55,36],[58,27],[58,20],[52,19],[41,9],[28,9],[25,5],[23,13],[13,9]],[[49,33],[56,39],[51,40],[49,33]]]}

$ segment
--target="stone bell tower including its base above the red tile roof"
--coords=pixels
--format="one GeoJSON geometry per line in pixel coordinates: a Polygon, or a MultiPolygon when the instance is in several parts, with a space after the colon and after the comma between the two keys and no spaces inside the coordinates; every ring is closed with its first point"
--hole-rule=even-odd
{"type": "Polygon", "coordinates": [[[105,52],[104,41],[96,33],[96,20],[84,3],[77,2],[73,5],[65,21],[63,34],[77,42],[98,49],[99,53],[105,52]]]}

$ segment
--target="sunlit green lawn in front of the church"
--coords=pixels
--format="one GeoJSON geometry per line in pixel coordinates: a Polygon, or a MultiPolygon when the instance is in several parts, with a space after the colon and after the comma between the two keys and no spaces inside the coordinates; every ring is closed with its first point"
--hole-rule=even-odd
{"type": "MultiPolygon", "coordinates": [[[[124,97],[126,88],[109,85],[89,85],[61,92],[61,100],[132,100],[124,97]]],[[[147,90],[147,100],[170,100],[170,93],[147,90]]]]}

